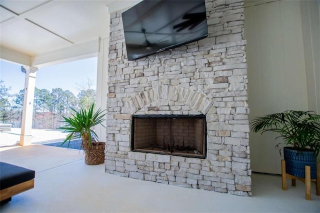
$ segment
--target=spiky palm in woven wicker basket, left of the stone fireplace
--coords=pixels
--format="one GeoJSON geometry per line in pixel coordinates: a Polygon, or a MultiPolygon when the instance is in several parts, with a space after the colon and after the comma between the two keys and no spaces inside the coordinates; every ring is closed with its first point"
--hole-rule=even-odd
{"type": "Polygon", "coordinates": [[[61,145],[72,139],[81,139],[81,147],[84,150],[84,162],[89,165],[97,165],[104,163],[105,142],[98,142],[97,134],[93,130],[93,126],[102,124],[104,120],[104,110],[100,108],[94,112],[94,103],[88,109],[83,106],[77,111],[71,108],[71,116],[63,117],[64,126],[59,127],[63,132],[68,132],[66,138],[61,145]]]}

